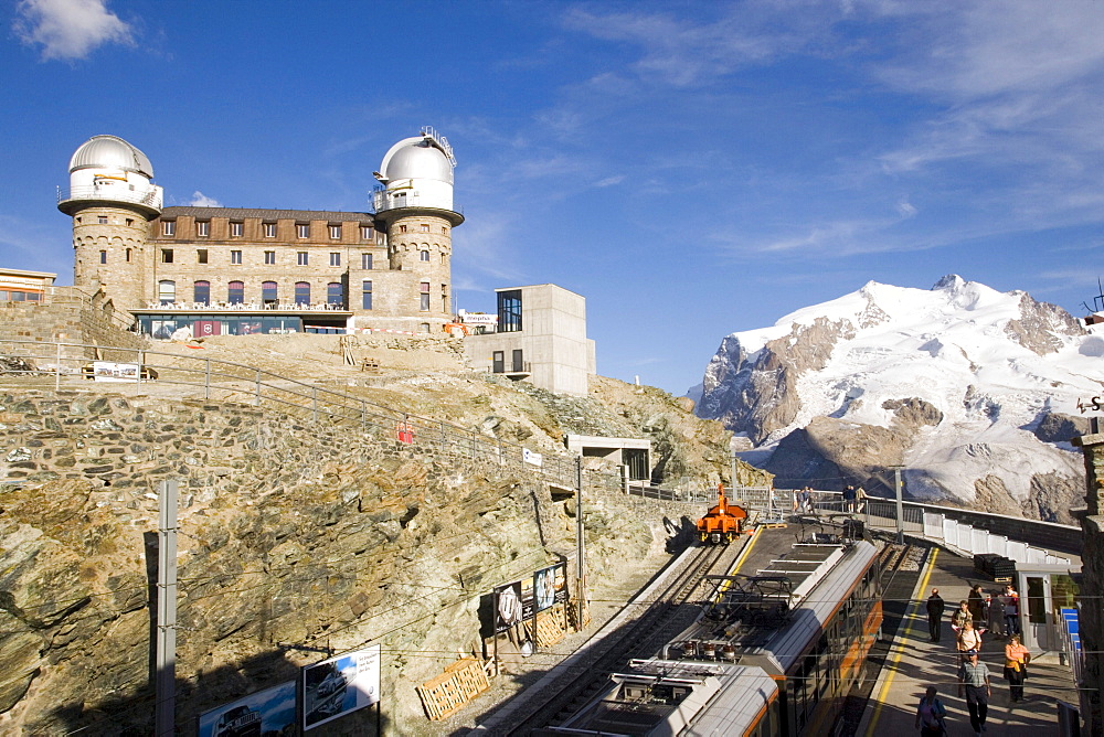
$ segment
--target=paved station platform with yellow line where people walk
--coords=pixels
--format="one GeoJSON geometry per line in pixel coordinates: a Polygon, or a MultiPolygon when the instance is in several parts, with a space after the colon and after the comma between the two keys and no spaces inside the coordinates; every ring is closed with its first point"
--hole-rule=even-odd
{"type": "MultiPolygon", "coordinates": [[[[997,587],[973,575],[972,560],[944,549],[932,549],[856,735],[919,734],[914,726],[916,707],[927,686],[938,688],[937,696],[947,708],[948,735],[974,735],[966,701],[958,697],[958,655],[951,629],[951,612],[966,598],[973,584],[981,584],[987,591],[997,587]],[[928,635],[924,607],[933,587],[940,589],[947,604],[938,643],[928,635]]],[[[1002,638],[983,639],[980,660],[989,667],[992,686],[988,729],[984,734],[994,737],[1058,734],[1058,701],[1078,704],[1072,672],[1059,664],[1057,654],[1032,653],[1029,677],[1023,684],[1025,701],[1012,704],[1002,675],[1005,644],[1002,638]]]]}

